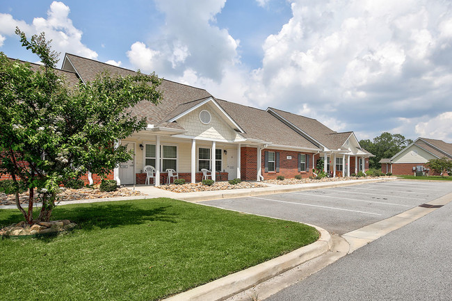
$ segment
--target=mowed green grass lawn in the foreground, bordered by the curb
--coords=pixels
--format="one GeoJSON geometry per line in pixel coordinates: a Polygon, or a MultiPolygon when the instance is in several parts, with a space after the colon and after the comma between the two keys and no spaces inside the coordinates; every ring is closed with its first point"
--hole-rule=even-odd
{"type": "MultiPolygon", "coordinates": [[[[316,241],[296,222],[165,198],[73,204],[79,227],[0,241],[0,300],[159,300],[316,241]]],[[[22,220],[0,210],[0,228],[22,220]]]]}

